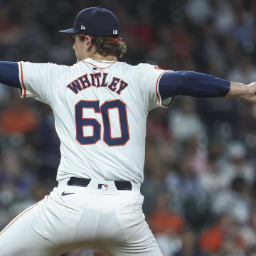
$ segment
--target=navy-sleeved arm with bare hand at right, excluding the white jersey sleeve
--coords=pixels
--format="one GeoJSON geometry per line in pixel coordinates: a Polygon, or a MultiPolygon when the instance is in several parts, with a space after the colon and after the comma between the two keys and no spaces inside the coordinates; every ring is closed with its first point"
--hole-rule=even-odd
{"type": "Polygon", "coordinates": [[[256,102],[256,82],[245,85],[193,71],[168,71],[159,80],[162,100],[176,95],[193,97],[237,97],[256,102]]]}

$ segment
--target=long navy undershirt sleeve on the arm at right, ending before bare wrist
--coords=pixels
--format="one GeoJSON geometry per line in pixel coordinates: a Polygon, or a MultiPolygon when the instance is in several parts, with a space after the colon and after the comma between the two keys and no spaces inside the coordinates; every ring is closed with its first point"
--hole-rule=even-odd
{"type": "Polygon", "coordinates": [[[230,81],[193,71],[168,71],[161,76],[161,99],[176,95],[194,97],[224,97],[230,90],[230,81]]]}

